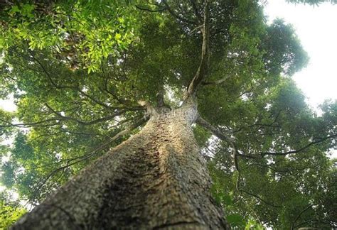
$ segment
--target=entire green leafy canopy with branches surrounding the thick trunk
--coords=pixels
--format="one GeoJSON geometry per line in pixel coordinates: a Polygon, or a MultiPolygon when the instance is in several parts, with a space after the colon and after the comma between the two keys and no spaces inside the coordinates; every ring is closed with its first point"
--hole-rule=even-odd
{"type": "MultiPolygon", "coordinates": [[[[0,97],[17,106],[0,111],[1,138],[14,138],[0,148],[1,183],[38,204],[141,128],[139,102],[164,96],[180,106],[203,60],[204,6],[1,2],[0,97]],[[121,133],[130,124],[137,125],[121,133]]],[[[309,60],[294,28],[282,19],[268,24],[259,1],[209,8],[195,136],[213,196],[234,229],[336,227],[336,161],[326,153],[336,149],[337,103],[321,105],[318,116],[291,80],[309,60]]]]}

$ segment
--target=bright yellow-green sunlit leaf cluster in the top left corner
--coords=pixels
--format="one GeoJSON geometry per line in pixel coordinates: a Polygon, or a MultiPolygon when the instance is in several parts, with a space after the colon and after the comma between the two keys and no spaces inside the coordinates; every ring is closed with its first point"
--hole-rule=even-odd
{"type": "Polygon", "coordinates": [[[72,69],[100,69],[102,57],[118,53],[134,39],[135,17],[123,1],[23,1],[5,8],[1,16],[0,49],[14,40],[31,50],[51,48],[72,69]],[[122,4],[121,4],[122,3],[122,4]],[[95,33],[92,33],[95,31],[95,33]],[[5,34],[5,35],[4,35],[5,34]]]}

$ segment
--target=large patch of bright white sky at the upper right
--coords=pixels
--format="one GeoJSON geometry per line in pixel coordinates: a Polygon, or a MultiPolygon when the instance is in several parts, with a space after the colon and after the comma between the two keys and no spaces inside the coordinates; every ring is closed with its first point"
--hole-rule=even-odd
{"type": "Polygon", "coordinates": [[[337,4],[287,4],[270,0],[264,13],[269,21],[284,18],[296,29],[310,61],[293,79],[314,108],[325,99],[337,99],[337,4]]]}

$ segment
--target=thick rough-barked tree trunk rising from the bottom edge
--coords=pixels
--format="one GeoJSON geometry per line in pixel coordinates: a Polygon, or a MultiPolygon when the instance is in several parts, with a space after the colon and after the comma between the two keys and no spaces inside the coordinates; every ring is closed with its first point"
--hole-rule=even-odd
{"type": "Polygon", "coordinates": [[[229,229],[193,136],[196,106],[155,114],[13,229],[229,229]]]}

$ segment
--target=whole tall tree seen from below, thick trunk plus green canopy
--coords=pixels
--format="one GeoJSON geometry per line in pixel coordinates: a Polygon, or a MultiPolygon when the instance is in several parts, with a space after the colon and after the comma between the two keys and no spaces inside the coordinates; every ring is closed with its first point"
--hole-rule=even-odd
{"type": "Polygon", "coordinates": [[[305,104],[306,53],[258,1],[0,6],[3,183],[39,204],[14,229],[333,226],[336,103],[305,104]]]}

